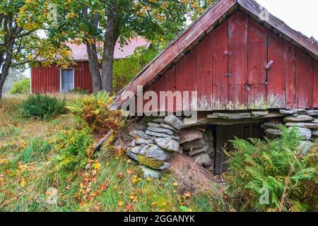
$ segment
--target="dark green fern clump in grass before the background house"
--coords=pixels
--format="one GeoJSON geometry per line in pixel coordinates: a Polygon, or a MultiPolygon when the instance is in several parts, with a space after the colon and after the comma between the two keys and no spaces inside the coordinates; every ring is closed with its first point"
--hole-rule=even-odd
{"type": "Polygon", "coordinates": [[[20,111],[26,117],[37,119],[49,119],[64,112],[65,97],[58,100],[57,97],[48,95],[30,95],[21,105],[20,111]]]}

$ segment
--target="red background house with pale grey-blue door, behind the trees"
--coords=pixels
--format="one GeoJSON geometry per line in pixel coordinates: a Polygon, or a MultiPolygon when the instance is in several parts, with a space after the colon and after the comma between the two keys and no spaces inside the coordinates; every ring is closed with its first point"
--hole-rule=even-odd
{"type": "MultiPolygon", "coordinates": [[[[39,66],[31,69],[31,93],[62,93],[74,88],[81,88],[93,92],[88,54],[86,45],[68,44],[73,54],[74,64],[67,69],[56,64],[49,67],[39,66]]],[[[147,47],[148,42],[143,38],[130,40],[129,44],[120,47],[116,44],[114,59],[124,59],[134,54],[136,47],[147,47]]]]}

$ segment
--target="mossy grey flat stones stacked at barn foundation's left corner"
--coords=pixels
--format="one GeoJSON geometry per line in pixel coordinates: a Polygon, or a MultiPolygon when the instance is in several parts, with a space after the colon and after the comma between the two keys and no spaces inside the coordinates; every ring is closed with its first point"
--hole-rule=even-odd
{"type": "Polygon", "coordinates": [[[160,177],[159,170],[170,167],[173,153],[179,152],[179,130],[182,121],[167,117],[143,117],[134,131],[127,155],[138,161],[145,177],[160,177]],[[157,171],[155,171],[157,170],[157,171]]]}

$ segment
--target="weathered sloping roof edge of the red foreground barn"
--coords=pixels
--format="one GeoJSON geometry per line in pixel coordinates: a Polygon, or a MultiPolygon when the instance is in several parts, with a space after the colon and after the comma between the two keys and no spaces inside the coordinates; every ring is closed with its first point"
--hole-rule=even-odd
{"type": "Polygon", "coordinates": [[[267,20],[261,20],[261,13],[264,7],[257,4],[254,0],[218,0],[197,20],[189,25],[175,40],[170,42],[158,56],[143,68],[126,87],[119,92],[112,109],[119,109],[126,99],[128,93],[136,94],[137,85],[146,87],[162,76],[167,69],[173,66],[184,54],[189,52],[196,44],[202,40],[208,32],[211,32],[217,25],[230,17],[232,13],[240,10],[269,28],[284,40],[287,40],[296,47],[302,49],[314,59],[318,60],[318,42],[314,38],[306,37],[302,33],[288,27],[282,20],[269,13],[267,20]],[[124,93],[124,91],[129,91],[124,93]]]}

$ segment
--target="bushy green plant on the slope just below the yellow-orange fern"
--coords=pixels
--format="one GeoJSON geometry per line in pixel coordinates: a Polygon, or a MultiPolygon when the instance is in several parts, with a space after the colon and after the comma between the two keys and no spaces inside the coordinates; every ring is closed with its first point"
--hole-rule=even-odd
{"type": "Polygon", "coordinates": [[[60,133],[57,147],[59,154],[56,157],[58,169],[71,171],[85,166],[93,143],[94,139],[88,128],[60,133]]]}

